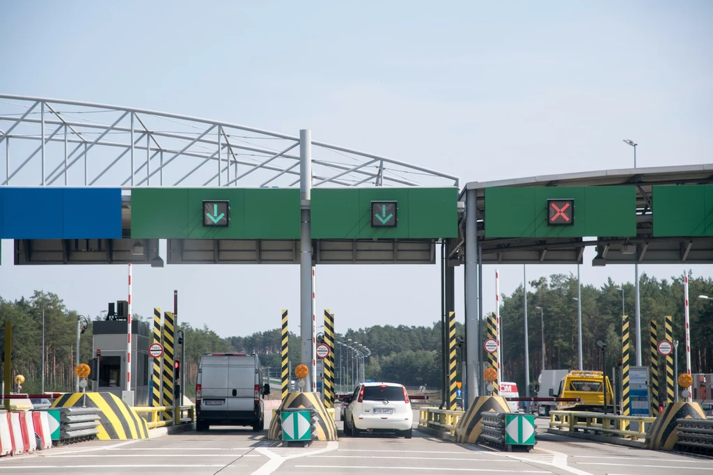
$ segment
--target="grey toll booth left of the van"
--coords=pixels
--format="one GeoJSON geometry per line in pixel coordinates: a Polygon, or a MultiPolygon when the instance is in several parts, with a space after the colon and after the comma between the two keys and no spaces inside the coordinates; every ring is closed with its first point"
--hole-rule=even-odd
{"type": "Polygon", "coordinates": [[[116,394],[133,407],[147,407],[151,379],[148,323],[131,322],[131,387],[126,387],[126,320],[98,320],[92,326],[92,357],[100,350],[101,359],[98,374],[92,374],[91,389],[116,394]]]}

